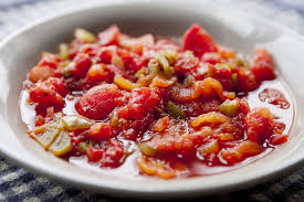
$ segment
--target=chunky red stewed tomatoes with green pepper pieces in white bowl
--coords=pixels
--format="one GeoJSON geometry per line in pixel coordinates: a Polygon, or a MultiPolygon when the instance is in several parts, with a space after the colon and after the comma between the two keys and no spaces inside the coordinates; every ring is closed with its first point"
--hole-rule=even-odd
{"type": "Polygon", "coordinates": [[[85,157],[105,169],[136,156],[140,174],[188,177],[195,163],[232,167],[287,140],[285,124],[265,107],[289,109],[283,93],[265,88],[264,105],[249,107],[247,95],[272,79],[266,50],[249,59],[198,24],[182,42],[133,38],[116,25],[97,35],[76,29],[29,72],[23,93],[35,116],[28,134],[66,160],[85,157]]]}

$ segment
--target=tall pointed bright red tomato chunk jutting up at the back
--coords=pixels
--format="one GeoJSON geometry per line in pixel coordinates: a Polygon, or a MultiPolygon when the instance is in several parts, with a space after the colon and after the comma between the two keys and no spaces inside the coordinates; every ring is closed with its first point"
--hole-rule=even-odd
{"type": "Polygon", "coordinates": [[[217,44],[202,28],[192,24],[184,34],[184,50],[190,50],[200,57],[203,53],[217,52],[217,44]]]}

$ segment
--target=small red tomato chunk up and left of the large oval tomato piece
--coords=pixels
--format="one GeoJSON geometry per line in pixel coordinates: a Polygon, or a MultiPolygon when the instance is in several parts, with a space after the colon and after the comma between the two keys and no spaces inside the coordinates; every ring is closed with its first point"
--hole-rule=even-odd
{"type": "Polygon", "coordinates": [[[69,72],[77,77],[84,77],[92,65],[88,55],[80,53],[75,56],[73,62],[69,65],[69,72]]]}

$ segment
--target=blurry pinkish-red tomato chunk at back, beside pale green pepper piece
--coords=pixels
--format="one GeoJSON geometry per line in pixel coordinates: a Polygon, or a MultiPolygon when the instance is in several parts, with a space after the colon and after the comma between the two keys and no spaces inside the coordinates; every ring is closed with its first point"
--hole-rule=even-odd
{"type": "Polygon", "coordinates": [[[118,26],[112,25],[108,29],[104,30],[103,32],[98,33],[98,43],[101,45],[116,44],[119,33],[120,31],[118,26]]]}

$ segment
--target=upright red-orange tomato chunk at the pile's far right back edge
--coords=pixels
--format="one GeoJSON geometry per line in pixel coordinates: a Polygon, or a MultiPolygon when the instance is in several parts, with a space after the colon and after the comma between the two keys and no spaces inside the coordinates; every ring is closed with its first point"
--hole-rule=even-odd
{"type": "Polygon", "coordinates": [[[253,55],[253,65],[250,67],[258,82],[274,79],[273,62],[269,52],[256,49],[253,55]]]}

